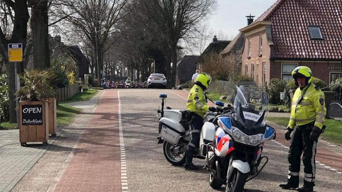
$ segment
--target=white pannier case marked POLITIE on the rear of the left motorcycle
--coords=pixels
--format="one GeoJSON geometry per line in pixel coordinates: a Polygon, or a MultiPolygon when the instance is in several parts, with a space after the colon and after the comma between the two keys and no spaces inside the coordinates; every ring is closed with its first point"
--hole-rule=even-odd
{"type": "Polygon", "coordinates": [[[169,118],[161,118],[159,121],[159,136],[176,145],[180,136],[184,135],[185,128],[179,123],[169,118]]]}

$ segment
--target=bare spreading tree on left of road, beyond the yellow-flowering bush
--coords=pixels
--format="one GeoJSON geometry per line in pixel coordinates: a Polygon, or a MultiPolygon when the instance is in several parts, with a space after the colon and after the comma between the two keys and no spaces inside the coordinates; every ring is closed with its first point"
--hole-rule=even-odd
{"type": "MultiPolygon", "coordinates": [[[[118,33],[118,22],[124,17],[122,9],[128,0],[58,0],[56,3],[66,25],[72,25],[75,33],[81,34],[84,42],[94,50],[96,77],[103,67],[103,53],[112,44],[105,46],[108,37],[118,33]]],[[[62,22],[62,21],[61,21],[62,22]]],[[[64,22],[62,22],[64,23],[64,22]]]]}

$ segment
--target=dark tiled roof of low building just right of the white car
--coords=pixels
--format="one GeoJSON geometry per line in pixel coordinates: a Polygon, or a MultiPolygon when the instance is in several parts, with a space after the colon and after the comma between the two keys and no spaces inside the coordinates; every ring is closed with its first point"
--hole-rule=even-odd
{"type": "Polygon", "coordinates": [[[196,61],[199,56],[185,55],[177,65],[177,73],[179,80],[191,80],[192,75],[196,71],[196,61]]]}

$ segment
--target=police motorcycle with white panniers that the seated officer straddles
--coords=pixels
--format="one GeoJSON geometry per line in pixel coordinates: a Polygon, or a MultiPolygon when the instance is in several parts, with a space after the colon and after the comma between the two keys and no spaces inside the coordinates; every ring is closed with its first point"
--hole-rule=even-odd
{"type": "MultiPolygon", "coordinates": [[[[158,110],[158,119],[159,119],[159,136],[158,144],[163,143],[163,151],[166,160],[172,165],[184,165],[186,159],[186,151],[188,147],[188,143],[190,140],[190,132],[189,132],[189,124],[186,121],[186,110],[175,110],[167,107],[164,110],[164,100],[167,99],[167,95],[161,94],[160,99],[161,102],[161,110],[158,110]]],[[[220,101],[215,102],[216,111],[218,112],[208,112],[204,118],[203,127],[208,126],[207,122],[212,121],[215,116],[222,114],[224,110],[228,108],[224,108],[224,103],[220,101]]],[[[211,126],[211,125],[210,125],[211,126]]],[[[212,131],[212,139],[214,139],[214,130],[213,129],[203,129],[207,131],[212,131]]],[[[202,135],[208,135],[208,133],[203,133],[202,135]]],[[[205,159],[206,154],[201,154],[199,147],[195,148],[194,157],[198,159],[205,159]]]]}

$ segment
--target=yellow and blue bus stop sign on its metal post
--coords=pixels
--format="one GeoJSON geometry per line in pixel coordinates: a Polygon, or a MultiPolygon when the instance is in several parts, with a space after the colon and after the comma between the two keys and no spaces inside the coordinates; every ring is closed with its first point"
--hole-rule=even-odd
{"type": "MultiPolygon", "coordinates": [[[[17,73],[18,62],[23,61],[23,44],[22,43],[9,43],[8,44],[8,61],[14,62],[15,73],[15,92],[17,92],[19,85],[19,77],[17,73]]],[[[19,128],[19,100],[18,95],[15,95],[15,105],[17,111],[17,126],[19,128]]]]}

